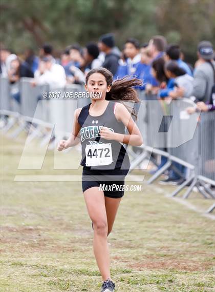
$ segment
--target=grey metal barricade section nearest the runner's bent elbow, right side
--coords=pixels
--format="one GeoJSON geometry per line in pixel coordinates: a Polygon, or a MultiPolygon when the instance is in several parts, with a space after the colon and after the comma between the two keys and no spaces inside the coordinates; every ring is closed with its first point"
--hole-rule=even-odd
{"type": "MultiPolygon", "coordinates": [[[[157,94],[145,94],[143,91],[139,93],[139,96],[142,102],[138,112],[138,116],[141,117],[139,119],[141,123],[138,124],[138,127],[144,141],[142,145],[144,152],[132,161],[131,171],[136,166],[141,165],[143,160],[146,159],[146,163],[150,159],[155,165],[158,165],[156,158],[151,155],[152,153],[163,155],[166,158],[169,156],[169,153],[166,151],[168,124],[170,121],[168,106],[164,101],[158,99],[157,94]]],[[[170,165],[171,162],[167,161],[167,163],[148,180],[148,183],[152,183],[156,180],[170,165]]]]}

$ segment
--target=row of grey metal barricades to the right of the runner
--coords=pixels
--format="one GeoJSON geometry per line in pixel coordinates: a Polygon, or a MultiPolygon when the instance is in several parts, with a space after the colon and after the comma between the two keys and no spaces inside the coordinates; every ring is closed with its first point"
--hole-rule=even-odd
{"type": "MultiPolygon", "coordinates": [[[[148,183],[157,179],[170,166],[174,169],[173,162],[176,162],[191,171],[187,171],[188,177],[173,192],[173,196],[191,182],[190,188],[184,194],[184,198],[187,198],[197,183],[197,176],[199,181],[203,178],[203,181],[214,184],[215,114],[202,113],[199,120],[200,113],[189,115],[185,110],[187,107],[195,106],[189,99],[172,101],[168,105],[165,101],[159,101],[156,95],[145,96],[146,101],[143,102],[145,104],[140,105],[138,112],[138,116],[141,117],[138,127],[143,139],[146,134],[144,129],[147,129],[147,139],[144,139],[143,148],[149,153],[154,152],[167,158],[167,163],[148,180],[148,183]]],[[[132,161],[132,166],[140,165],[146,156],[144,153],[138,155],[132,161]]]]}

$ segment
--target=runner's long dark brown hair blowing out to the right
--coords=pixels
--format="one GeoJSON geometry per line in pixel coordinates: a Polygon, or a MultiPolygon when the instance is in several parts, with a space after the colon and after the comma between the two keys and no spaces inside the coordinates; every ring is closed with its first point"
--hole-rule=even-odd
{"type": "MultiPolygon", "coordinates": [[[[111,90],[106,92],[105,100],[107,101],[133,101],[135,103],[139,102],[137,91],[133,86],[141,86],[142,80],[137,78],[132,78],[130,76],[125,76],[121,79],[113,81],[113,74],[106,68],[100,67],[97,69],[92,69],[88,72],[86,76],[86,84],[88,84],[89,77],[94,73],[100,73],[105,77],[107,86],[111,86],[111,90]]],[[[124,103],[123,103],[124,104],[124,103]]],[[[134,108],[128,107],[124,104],[127,110],[135,116],[137,119],[137,114],[134,108]]]]}

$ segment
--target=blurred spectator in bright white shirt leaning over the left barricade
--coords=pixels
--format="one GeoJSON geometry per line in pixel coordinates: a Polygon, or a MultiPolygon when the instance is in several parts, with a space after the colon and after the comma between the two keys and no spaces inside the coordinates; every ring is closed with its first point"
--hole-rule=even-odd
{"type": "Polygon", "coordinates": [[[66,85],[66,74],[63,67],[55,64],[53,57],[43,57],[39,62],[38,70],[34,73],[32,85],[50,85],[51,89],[62,88],[66,85]]]}

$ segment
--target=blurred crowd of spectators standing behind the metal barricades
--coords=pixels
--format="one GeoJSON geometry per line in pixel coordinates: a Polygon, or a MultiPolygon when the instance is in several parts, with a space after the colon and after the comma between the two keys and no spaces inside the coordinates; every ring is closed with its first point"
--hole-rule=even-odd
{"type": "MultiPolygon", "coordinates": [[[[89,70],[104,67],[112,72],[114,80],[127,75],[141,79],[142,86],[136,89],[156,94],[160,100],[191,99],[196,106],[187,108],[189,114],[215,110],[214,51],[208,41],[198,44],[197,61],[193,66],[185,62],[180,46],[167,44],[164,36],[153,36],[143,44],[136,38],[128,38],[120,51],[112,33],[84,47],[68,46],[60,57],[55,56],[50,44],[42,46],[37,54],[27,49],[22,58],[1,48],[0,60],[1,76],[8,77],[11,84],[21,77],[31,77],[32,86],[48,84],[51,89],[84,84],[89,70]]],[[[19,101],[17,92],[13,97],[19,101]]],[[[165,163],[166,158],[162,157],[158,169],[165,163]]],[[[181,165],[175,166],[185,171],[181,165]]],[[[163,183],[178,181],[180,177],[171,170],[163,183]]]]}

